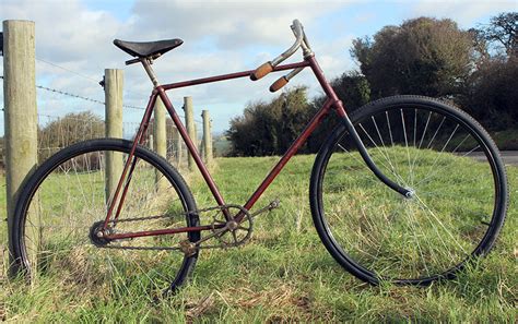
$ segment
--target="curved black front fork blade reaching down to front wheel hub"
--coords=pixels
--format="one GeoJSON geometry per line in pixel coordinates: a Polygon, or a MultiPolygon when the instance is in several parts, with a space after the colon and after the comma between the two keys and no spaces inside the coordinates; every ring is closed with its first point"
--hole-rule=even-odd
{"type": "Polygon", "coordinates": [[[345,113],[345,110],[343,109],[342,101],[337,103],[337,110],[338,113],[340,115],[341,121],[345,125],[348,132],[351,134],[353,137],[354,144],[356,145],[356,148],[360,152],[360,155],[362,156],[363,160],[367,165],[367,167],[373,171],[373,173],[381,181],[384,182],[387,187],[392,189],[393,191],[402,194],[405,197],[411,197],[412,196],[412,191],[399,185],[398,183],[393,182],[390,180],[387,176],[385,176],[381,170],[376,166],[374,160],[370,158],[368,155],[367,149],[365,148],[365,145],[363,145],[362,140],[360,139],[358,133],[356,132],[356,129],[354,129],[353,123],[351,122],[351,119],[349,119],[349,116],[345,113]]]}

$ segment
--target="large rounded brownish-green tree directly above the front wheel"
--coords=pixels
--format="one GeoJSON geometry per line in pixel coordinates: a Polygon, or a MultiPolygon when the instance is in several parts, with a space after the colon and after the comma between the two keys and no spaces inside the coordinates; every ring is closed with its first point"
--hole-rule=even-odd
{"type": "Polygon", "coordinates": [[[440,97],[460,92],[473,67],[473,41],[451,20],[419,17],[386,26],[374,39],[355,39],[351,55],[360,62],[375,98],[397,94],[440,97]]]}

